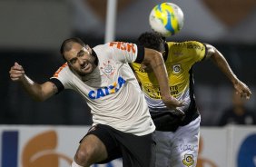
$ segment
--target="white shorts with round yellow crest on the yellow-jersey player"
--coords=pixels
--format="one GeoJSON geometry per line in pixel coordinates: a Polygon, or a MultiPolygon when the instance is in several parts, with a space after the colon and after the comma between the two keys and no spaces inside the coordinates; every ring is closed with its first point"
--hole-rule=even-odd
{"type": "Polygon", "coordinates": [[[156,131],[156,167],[195,167],[201,116],[176,132],[156,131]]]}

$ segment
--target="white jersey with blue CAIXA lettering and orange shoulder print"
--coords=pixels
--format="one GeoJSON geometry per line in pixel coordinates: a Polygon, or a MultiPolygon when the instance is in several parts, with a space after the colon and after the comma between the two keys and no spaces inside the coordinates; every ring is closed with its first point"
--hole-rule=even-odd
{"type": "Polygon", "coordinates": [[[98,58],[93,73],[81,77],[64,64],[51,79],[84,97],[94,124],[135,135],[153,133],[155,126],[147,103],[128,64],[137,58],[137,45],[113,42],[97,45],[93,50],[98,58]]]}

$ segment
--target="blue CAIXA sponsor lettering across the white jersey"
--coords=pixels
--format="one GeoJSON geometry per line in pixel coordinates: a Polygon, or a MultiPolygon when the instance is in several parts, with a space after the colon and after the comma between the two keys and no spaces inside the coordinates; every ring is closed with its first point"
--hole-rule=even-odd
{"type": "Polygon", "coordinates": [[[117,93],[121,87],[123,86],[123,84],[126,81],[123,79],[123,77],[119,76],[117,79],[117,82],[114,82],[113,84],[103,87],[103,88],[99,88],[97,90],[92,90],[88,93],[88,96],[90,99],[99,99],[101,97],[104,97],[106,95],[112,94],[112,93],[117,93]]]}

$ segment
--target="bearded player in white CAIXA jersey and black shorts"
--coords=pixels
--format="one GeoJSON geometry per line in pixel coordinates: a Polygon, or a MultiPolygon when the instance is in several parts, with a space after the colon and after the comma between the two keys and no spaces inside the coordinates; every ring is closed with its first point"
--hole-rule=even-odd
{"type": "Polygon", "coordinates": [[[136,44],[113,42],[90,48],[78,38],[64,41],[66,63],[45,83],[34,83],[20,64],[10,77],[34,99],[44,101],[64,89],[80,93],[93,114],[94,124],[74,155],[72,167],[90,166],[123,157],[124,167],[154,166],[155,126],[140,86],[128,63],[150,64],[160,83],[164,103],[182,106],[172,98],[162,54],[136,44]]]}

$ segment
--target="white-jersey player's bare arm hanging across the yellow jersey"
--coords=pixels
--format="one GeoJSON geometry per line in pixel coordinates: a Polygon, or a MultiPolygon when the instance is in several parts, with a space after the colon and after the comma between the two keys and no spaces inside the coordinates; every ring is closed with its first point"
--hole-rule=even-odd
{"type": "MultiPolygon", "coordinates": [[[[183,103],[178,101],[176,98],[171,96],[168,74],[166,67],[164,65],[164,61],[162,59],[162,54],[153,49],[145,48],[145,56],[143,64],[149,64],[153,68],[153,73],[155,74],[157,81],[160,85],[160,92],[162,96],[162,102],[168,107],[172,109],[176,109],[176,107],[183,106],[183,103]]],[[[178,109],[176,109],[178,110],[178,109]]],[[[183,114],[182,111],[178,111],[183,114]]]]}

